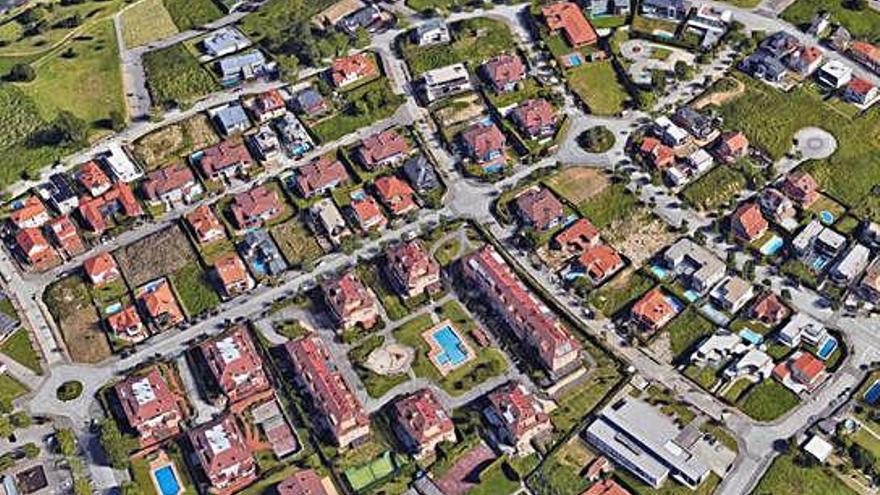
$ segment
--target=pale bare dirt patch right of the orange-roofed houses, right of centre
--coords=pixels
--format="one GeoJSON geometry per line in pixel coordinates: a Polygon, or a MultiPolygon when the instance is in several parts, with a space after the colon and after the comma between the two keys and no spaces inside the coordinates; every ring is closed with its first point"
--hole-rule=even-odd
{"type": "Polygon", "coordinates": [[[625,222],[612,223],[603,236],[635,266],[644,264],[675,239],[666,224],[645,209],[639,209],[625,222]]]}

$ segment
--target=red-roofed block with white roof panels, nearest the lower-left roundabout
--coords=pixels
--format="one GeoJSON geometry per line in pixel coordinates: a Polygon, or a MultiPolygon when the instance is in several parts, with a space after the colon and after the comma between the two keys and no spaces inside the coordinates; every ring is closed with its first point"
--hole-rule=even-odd
{"type": "Polygon", "coordinates": [[[113,387],[128,426],[141,446],[149,446],[180,432],[184,399],[168,385],[158,366],[132,375],[113,387]]]}

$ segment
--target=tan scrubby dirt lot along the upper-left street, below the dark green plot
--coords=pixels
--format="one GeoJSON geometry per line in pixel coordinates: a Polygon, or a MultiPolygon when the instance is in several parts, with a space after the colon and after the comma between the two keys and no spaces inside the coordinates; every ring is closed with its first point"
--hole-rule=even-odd
{"type": "Polygon", "coordinates": [[[207,115],[197,114],[138,139],[132,154],[147,170],[185,159],[192,152],[220,142],[207,115]]]}

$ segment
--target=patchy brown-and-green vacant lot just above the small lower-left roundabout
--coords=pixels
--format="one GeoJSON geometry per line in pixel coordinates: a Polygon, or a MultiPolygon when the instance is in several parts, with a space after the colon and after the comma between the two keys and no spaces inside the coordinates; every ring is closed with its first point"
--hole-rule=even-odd
{"type": "Polygon", "coordinates": [[[50,285],[43,296],[61,329],[70,354],[78,363],[97,363],[110,356],[110,344],[101,328],[89,290],[78,275],[69,275],[50,285]]]}

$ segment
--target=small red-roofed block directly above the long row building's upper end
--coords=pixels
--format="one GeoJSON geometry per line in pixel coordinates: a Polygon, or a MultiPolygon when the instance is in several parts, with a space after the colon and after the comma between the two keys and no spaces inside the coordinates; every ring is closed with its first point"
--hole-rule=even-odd
{"type": "Polygon", "coordinates": [[[360,325],[373,328],[379,323],[379,304],[373,291],[351,270],[321,284],[324,302],[340,330],[360,325]]]}

